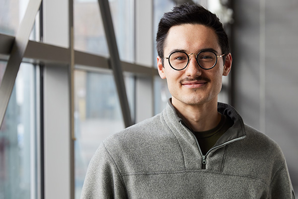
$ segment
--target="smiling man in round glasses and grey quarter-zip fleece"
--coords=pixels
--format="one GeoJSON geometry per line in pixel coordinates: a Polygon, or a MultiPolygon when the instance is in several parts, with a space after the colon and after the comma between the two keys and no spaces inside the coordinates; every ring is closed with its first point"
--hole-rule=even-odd
{"type": "Polygon", "coordinates": [[[216,15],[174,7],[161,18],[156,42],[172,98],[160,114],[100,145],[82,198],[295,198],[279,146],[218,103],[232,57],[216,15]]]}

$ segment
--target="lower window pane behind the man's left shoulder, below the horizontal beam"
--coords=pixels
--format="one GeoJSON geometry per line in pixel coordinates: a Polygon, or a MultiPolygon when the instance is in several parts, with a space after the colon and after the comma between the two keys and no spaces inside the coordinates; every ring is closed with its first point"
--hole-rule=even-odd
{"type": "MultiPolygon", "coordinates": [[[[133,78],[125,78],[125,82],[128,100],[134,103],[133,78]]],[[[74,100],[75,198],[79,199],[91,157],[101,141],[124,129],[124,122],[111,74],[76,70],[74,100]]]]}

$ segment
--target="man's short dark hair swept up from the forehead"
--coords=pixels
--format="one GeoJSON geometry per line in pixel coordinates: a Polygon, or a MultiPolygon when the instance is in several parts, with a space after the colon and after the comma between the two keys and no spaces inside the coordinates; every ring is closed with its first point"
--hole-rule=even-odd
{"type": "Polygon", "coordinates": [[[228,38],[220,19],[201,5],[184,3],[173,7],[172,11],[164,13],[159,21],[156,49],[160,58],[163,59],[163,48],[169,29],[182,24],[201,24],[213,28],[218,36],[222,53],[225,55],[229,53],[228,38]]]}

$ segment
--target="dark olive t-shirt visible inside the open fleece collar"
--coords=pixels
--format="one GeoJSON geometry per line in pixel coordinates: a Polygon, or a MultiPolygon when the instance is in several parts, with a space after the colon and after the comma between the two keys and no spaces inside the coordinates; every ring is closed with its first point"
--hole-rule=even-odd
{"type": "Polygon", "coordinates": [[[221,121],[215,128],[208,131],[194,132],[203,155],[206,155],[206,153],[215,145],[218,139],[232,125],[233,121],[229,117],[222,114],[221,121]]]}

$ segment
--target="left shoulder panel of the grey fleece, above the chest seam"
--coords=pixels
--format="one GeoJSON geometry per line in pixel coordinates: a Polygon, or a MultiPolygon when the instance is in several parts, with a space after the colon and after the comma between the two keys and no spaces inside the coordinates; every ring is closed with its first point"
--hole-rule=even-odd
{"type": "Polygon", "coordinates": [[[102,145],[104,148],[101,149],[109,154],[121,174],[167,170],[184,165],[181,148],[161,114],[114,134],[102,145]],[[170,165],[170,160],[175,160],[176,164],[170,165]]]}

